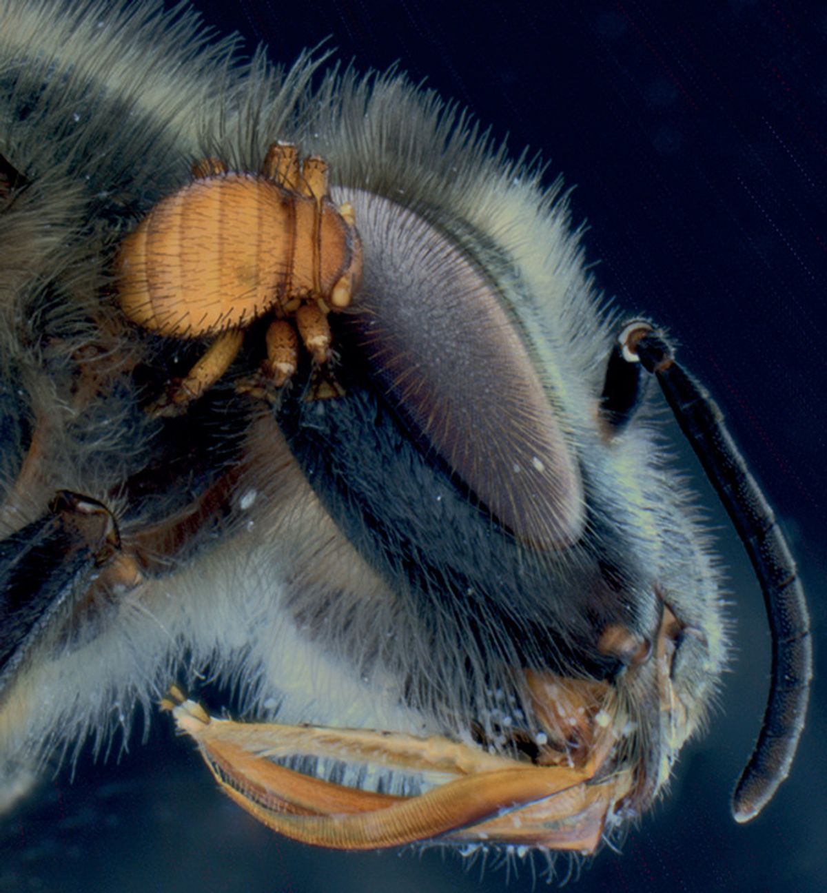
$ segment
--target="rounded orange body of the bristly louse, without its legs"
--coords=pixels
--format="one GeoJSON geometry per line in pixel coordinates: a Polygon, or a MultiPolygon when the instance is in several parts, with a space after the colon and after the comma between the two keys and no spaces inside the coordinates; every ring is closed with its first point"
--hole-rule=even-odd
{"type": "Polygon", "coordinates": [[[360,265],[355,229],[330,199],[230,173],[156,204],[123,240],[116,272],[130,320],[195,338],[296,298],[330,298],[343,276],[358,279],[360,265]]]}

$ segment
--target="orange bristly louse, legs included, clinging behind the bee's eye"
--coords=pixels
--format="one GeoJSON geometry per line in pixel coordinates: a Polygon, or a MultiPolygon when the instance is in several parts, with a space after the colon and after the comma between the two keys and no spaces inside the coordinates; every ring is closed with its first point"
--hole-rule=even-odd
{"type": "Polygon", "coordinates": [[[180,412],[221,378],[244,328],[263,313],[264,382],[280,388],[296,372],[294,316],[316,363],[330,359],[327,313],[350,304],[362,270],[353,209],[328,196],[320,158],[299,165],[295,146],[274,143],[261,174],[230,173],[217,159],[193,166],[196,180],[165,197],[121,243],[121,308],[139,326],[174,338],[215,335],[212,346],[155,407],[180,412]]]}

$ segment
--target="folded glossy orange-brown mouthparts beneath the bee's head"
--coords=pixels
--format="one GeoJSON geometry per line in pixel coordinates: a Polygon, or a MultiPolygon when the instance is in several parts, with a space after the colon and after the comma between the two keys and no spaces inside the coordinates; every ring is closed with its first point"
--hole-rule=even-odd
{"type": "Polygon", "coordinates": [[[435,841],[592,853],[632,772],[603,773],[608,731],[582,764],[537,765],[441,736],[215,719],[180,692],[172,714],[195,739],[221,789],[271,830],[321,847],[378,849],[435,841]],[[414,773],[399,796],[336,783],[282,764],[315,757],[414,773]]]}

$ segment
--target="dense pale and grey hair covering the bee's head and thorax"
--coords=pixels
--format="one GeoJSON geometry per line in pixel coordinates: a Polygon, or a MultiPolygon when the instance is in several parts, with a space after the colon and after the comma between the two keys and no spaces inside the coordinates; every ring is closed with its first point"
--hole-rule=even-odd
{"type": "MultiPolygon", "coordinates": [[[[545,188],[541,167],[511,161],[402,75],[322,74],[309,56],[288,70],[263,55],[242,63],[231,43],[209,45],[192,13],[156,4],[0,0],[0,120],[0,154],[29,183],[0,197],[3,535],[62,488],[109,505],[125,544],[194,502],[221,505],[194,532],[175,528],[183,546],[154,545],[138,588],[76,609],[38,641],[0,700],[0,801],[89,737],[108,749],[115,730],[128,736],[172,680],[205,675],[233,685],[246,716],[465,741],[473,730],[511,752],[508,726],[538,730],[526,667],[613,680],[625,757],[649,765],[659,789],[722,672],[720,580],[652,410],[614,438],[602,426],[614,321],[561,182],[545,188]],[[457,482],[430,430],[412,433],[402,398],[360,360],[358,320],[338,331],[342,405],[305,402],[305,370],[272,411],[230,380],[186,420],[143,412],[203,346],[129,324],[117,246],[194,161],[257,171],[277,139],[326,159],[357,226],[359,213],[375,222],[370,199],[358,202],[380,196],[482,271],[581,482],[571,548],[535,549],[482,511],[482,472],[469,463],[457,482]],[[44,445],[34,469],[32,432],[44,445]],[[673,673],[680,730],[661,728],[647,684],[597,647],[613,623],[654,638],[662,603],[698,633],[673,673]]],[[[366,294],[428,291],[383,260],[392,237],[376,225],[366,294]]],[[[437,335],[450,362],[463,346],[437,335]]],[[[242,357],[237,377],[254,360],[242,357]]],[[[533,420],[518,416],[506,405],[519,452],[533,420]]]]}

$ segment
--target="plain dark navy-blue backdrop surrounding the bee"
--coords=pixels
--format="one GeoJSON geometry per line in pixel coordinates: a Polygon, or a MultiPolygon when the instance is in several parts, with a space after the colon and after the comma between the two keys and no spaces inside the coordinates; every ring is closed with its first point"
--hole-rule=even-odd
{"type": "MultiPolygon", "coordinates": [[[[769,643],[737,541],[737,653],[722,709],[664,803],[604,850],[582,891],[822,890],[827,869],[823,678],[827,569],[827,6],[491,0],[197,4],[277,60],[330,37],[360,70],[399,63],[467,105],[514,154],[563,171],[606,294],[662,321],[714,392],[792,541],[817,670],[798,762],[756,822],[731,787],[758,728],[769,643]]],[[[689,459],[687,460],[689,463],[689,459]]],[[[706,493],[709,505],[714,497],[706,493]]],[[[336,855],[277,839],[213,790],[168,724],[120,765],[82,764],[0,832],[0,888],[497,890],[506,872],[455,855],[336,855]],[[7,888],[3,885],[7,885],[7,888]]],[[[542,867],[540,864],[538,868],[542,867]]],[[[509,889],[532,888],[523,865],[509,889]]]]}

